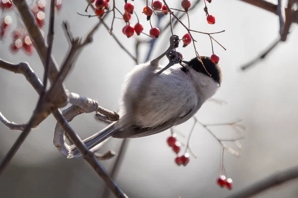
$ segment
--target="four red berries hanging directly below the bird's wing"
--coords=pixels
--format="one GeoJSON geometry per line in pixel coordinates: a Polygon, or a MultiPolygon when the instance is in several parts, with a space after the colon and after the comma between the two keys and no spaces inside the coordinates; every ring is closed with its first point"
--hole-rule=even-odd
{"type": "MultiPolygon", "coordinates": [[[[172,134],[172,136],[168,137],[166,142],[168,146],[171,147],[176,154],[179,153],[181,148],[181,143],[176,140],[176,134],[172,134]]],[[[183,155],[177,156],[175,158],[175,163],[178,166],[180,165],[186,166],[189,163],[189,154],[185,152],[183,155]]]]}

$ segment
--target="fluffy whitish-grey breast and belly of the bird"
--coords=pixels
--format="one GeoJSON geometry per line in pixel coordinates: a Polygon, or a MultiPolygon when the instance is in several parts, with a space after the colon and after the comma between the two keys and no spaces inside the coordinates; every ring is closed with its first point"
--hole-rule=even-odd
{"type": "Polygon", "coordinates": [[[123,85],[121,114],[132,112],[134,124],[158,126],[169,119],[187,114],[198,105],[198,92],[180,66],[172,66],[160,75],[149,63],[137,65],[123,85]]]}

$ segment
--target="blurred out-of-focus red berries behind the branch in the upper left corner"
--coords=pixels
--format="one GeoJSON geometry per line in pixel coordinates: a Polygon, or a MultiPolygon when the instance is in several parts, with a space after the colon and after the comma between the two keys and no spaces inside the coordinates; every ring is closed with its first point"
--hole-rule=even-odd
{"type": "MultiPolygon", "coordinates": [[[[0,7],[2,8],[2,15],[3,15],[4,11],[7,11],[13,8],[12,1],[0,0],[0,7]]],[[[30,5],[30,10],[35,17],[36,23],[39,28],[42,28],[45,24],[45,12],[44,12],[45,7],[46,7],[46,0],[34,1],[30,5]]],[[[62,7],[62,0],[56,0],[56,5],[55,5],[56,10],[60,10],[61,7],[62,7]]],[[[1,21],[2,22],[0,26],[0,39],[2,39],[5,36],[8,30],[8,27],[12,23],[12,18],[11,16],[7,15],[2,17],[1,21]]],[[[43,31],[42,30],[40,31],[41,31],[41,34],[44,36],[43,31]]],[[[10,51],[12,53],[17,52],[19,49],[23,49],[27,55],[32,55],[34,46],[32,44],[30,37],[28,36],[27,31],[25,30],[22,24],[20,24],[15,30],[12,31],[11,36],[12,36],[13,42],[10,45],[10,51]]]]}

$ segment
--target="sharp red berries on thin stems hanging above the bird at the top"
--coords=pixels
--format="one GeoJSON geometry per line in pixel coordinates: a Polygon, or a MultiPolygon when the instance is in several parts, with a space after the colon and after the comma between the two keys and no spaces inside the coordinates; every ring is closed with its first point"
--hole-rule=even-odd
{"type": "MultiPolygon", "coordinates": [[[[151,16],[154,13],[155,15],[159,14],[159,12],[163,13],[164,15],[166,14],[170,14],[170,16],[175,17],[180,24],[182,24],[182,26],[184,26],[184,28],[187,30],[188,33],[186,33],[183,37],[182,37],[182,41],[183,41],[183,47],[187,47],[189,44],[193,43],[195,51],[197,56],[198,52],[196,50],[195,47],[195,40],[193,38],[193,36],[191,35],[191,32],[198,32],[198,33],[202,33],[202,34],[206,34],[210,37],[211,40],[211,45],[212,45],[212,55],[211,55],[211,60],[214,63],[218,63],[220,60],[220,57],[214,53],[214,49],[213,49],[213,41],[217,42],[222,48],[224,48],[218,41],[216,41],[211,34],[217,34],[217,33],[221,33],[221,32],[216,32],[216,33],[204,33],[204,32],[199,32],[199,31],[195,31],[195,30],[191,30],[190,29],[190,24],[189,24],[189,20],[188,20],[188,28],[185,24],[183,24],[182,21],[180,21],[177,16],[175,15],[175,13],[172,10],[176,10],[179,12],[184,12],[188,15],[188,11],[191,8],[191,2],[190,0],[181,0],[181,7],[183,8],[183,10],[180,9],[176,9],[176,8],[171,8],[167,5],[167,3],[164,0],[152,0],[151,1],[151,5],[148,4],[148,0],[146,1],[146,6],[143,7],[143,11],[142,13],[144,15],[147,16],[147,21],[150,22],[150,30],[149,30],[149,34],[144,33],[144,27],[143,25],[140,23],[139,21],[139,17],[137,15],[137,12],[135,11],[135,5],[132,2],[127,2],[127,0],[125,0],[125,4],[124,4],[124,14],[121,13],[121,11],[116,7],[116,5],[113,4],[112,9],[109,9],[109,0],[89,0],[89,4],[93,3],[93,6],[95,7],[95,14],[94,16],[98,16],[98,17],[103,17],[105,14],[113,11],[113,20],[112,20],[112,25],[111,28],[109,30],[110,33],[112,33],[113,30],[113,24],[114,24],[114,20],[118,17],[115,16],[115,12],[118,11],[121,15],[123,21],[126,23],[126,25],[122,28],[122,33],[124,35],[127,36],[127,38],[131,38],[135,33],[137,35],[140,35],[141,33],[150,36],[151,38],[158,38],[160,36],[160,30],[157,27],[152,27],[151,24],[151,16]],[[105,11],[106,10],[106,11],[105,11]],[[136,23],[135,25],[132,25],[131,20],[132,20],[132,16],[136,15],[138,23],[136,23]]],[[[207,22],[209,24],[215,24],[215,17],[211,14],[208,13],[208,7],[206,5],[206,0],[204,0],[205,2],[205,7],[204,7],[204,11],[206,13],[207,16],[207,22]]],[[[207,2],[211,3],[211,0],[207,0],[207,2]]],[[[87,8],[88,8],[87,6],[87,8]]],[[[87,8],[85,11],[87,11],[87,8]]],[[[91,15],[85,15],[85,14],[80,14],[82,16],[88,16],[90,17],[91,15]]],[[[189,16],[188,16],[189,18],[189,16]]],[[[173,30],[172,30],[172,24],[170,22],[170,26],[171,26],[171,32],[173,34],[173,30]]],[[[224,48],[225,49],[225,48],[224,48]]],[[[179,53],[179,56],[182,54],[179,53]]],[[[207,71],[208,73],[208,71],[207,71]]]]}

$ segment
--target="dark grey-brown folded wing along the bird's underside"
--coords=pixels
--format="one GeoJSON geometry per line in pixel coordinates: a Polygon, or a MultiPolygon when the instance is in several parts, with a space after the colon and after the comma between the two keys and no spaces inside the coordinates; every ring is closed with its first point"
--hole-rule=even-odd
{"type": "Polygon", "coordinates": [[[132,126],[130,128],[124,129],[124,130],[115,131],[115,132],[113,132],[112,137],[113,138],[140,138],[140,137],[157,134],[157,133],[165,131],[173,126],[182,124],[183,122],[187,121],[189,118],[191,118],[198,111],[198,109],[199,109],[199,107],[194,108],[194,109],[190,110],[184,116],[175,118],[173,120],[165,122],[164,124],[159,125],[154,128],[132,126]]]}

